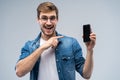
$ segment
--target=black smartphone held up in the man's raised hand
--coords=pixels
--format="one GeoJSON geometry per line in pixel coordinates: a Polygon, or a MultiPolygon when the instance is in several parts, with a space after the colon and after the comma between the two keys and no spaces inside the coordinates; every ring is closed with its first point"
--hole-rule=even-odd
{"type": "Polygon", "coordinates": [[[83,41],[89,42],[90,41],[90,33],[91,33],[91,27],[90,24],[83,25],[83,41]]]}

